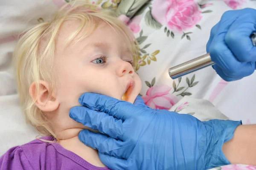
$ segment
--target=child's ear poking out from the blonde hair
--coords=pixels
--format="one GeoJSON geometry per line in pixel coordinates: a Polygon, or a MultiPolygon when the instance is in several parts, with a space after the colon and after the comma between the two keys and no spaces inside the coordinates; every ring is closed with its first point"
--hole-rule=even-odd
{"type": "Polygon", "coordinates": [[[44,112],[52,112],[58,109],[59,102],[56,100],[55,94],[51,94],[49,84],[43,80],[38,82],[39,89],[36,89],[36,83],[33,82],[29,87],[29,94],[35,101],[35,105],[44,112]]]}

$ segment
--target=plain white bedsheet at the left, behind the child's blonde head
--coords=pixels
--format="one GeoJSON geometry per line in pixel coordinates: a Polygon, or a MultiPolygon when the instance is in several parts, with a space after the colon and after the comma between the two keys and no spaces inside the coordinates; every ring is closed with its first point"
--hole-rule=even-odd
{"type": "Polygon", "coordinates": [[[52,0],[6,0],[0,1],[0,155],[9,148],[29,142],[38,135],[26,125],[20,111],[14,77],[12,52],[15,39],[22,31],[47,20],[58,9],[52,0]]]}

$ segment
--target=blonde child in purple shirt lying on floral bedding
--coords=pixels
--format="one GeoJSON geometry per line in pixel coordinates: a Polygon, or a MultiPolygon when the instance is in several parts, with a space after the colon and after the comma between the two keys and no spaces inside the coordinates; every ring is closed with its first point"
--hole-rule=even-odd
{"type": "Polygon", "coordinates": [[[69,110],[85,92],[134,102],[141,90],[132,66],[134,40],[110,11],[82,4],[26,32],[14,53],[20,105],[26,120],[51,137],[11,148],[0,169],[108,169],[97,150],[79,141],[88,127],[73,121],[69,110]]]}

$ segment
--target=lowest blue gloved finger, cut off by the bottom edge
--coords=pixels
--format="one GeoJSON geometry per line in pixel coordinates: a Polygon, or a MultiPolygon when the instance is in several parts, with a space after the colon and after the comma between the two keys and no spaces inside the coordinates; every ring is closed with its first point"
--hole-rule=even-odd
{"type": "Polygon", "coordinates": [[[125,159],[119,159],[99,152],[99,159],[111,170],[128,170],[128,163],[125,159]],[[127,167],[124,169],[124,167],[127,167]]]}

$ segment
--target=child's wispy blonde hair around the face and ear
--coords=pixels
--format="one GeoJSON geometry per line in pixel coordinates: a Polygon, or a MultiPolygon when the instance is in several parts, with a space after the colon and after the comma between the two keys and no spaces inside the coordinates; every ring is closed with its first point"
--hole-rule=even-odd
{"type": "MultiPolygon", "coordinates": [[[[45,114],[35,105],[35,100],[29,95],[29,87],[35,82],[38,93],[39,82],[44,80],[49,83],[49,93],[54,93],[56,88],[54,56],[55,40],[62,24],[67,20],[79,20],[80,26],[66,40],[66,45],[71,42],[79,42],[90,35],[97,23],[105,22],[118,34],[125,37],[128,48],[134,59],[138,55],[138,46],[132,32],[122,21],[114,17],[113,12],[102,10],[97,6],[75,3],[72,1],[63,6],[55,17],[45,23],[38,24],[25,32],[17,43],[13,61],[17,80],[17,91],[20,97],[20,105],[27,122],[37,128],[43,136],[56,135],[45,114]],[[84,29],[87,24],[93,24],[94,28],[88,31],[84,29]]],[[[136,62],[136,61],[134,61],[136,62]]],[[[57,139],[58,140],[58,139],[57,139]]]]}

